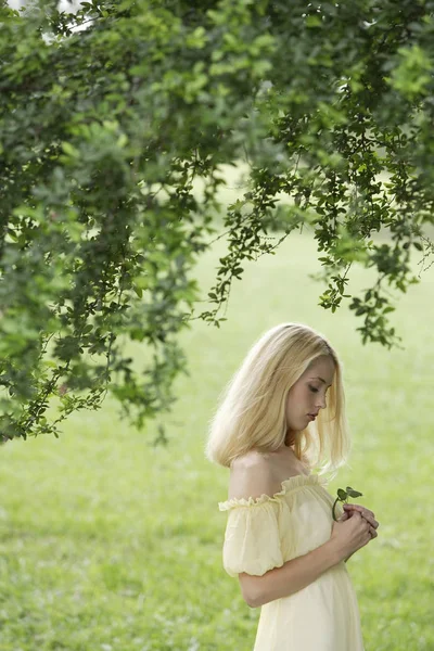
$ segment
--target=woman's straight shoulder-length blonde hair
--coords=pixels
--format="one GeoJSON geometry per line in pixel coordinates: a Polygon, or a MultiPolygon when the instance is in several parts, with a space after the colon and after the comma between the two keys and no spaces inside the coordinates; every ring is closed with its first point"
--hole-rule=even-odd
{"type": "Polygon", "coordinates": [[[326,337],[301,323],[276,326],[252,346],[220,395],[209,422],[206,458],[229,468],[252,449],[276,451],[286,443],[288,392],[320,355],[332,357],[335,366],[328,405],[316,422],[296,433],[294,454],[319,474],[334,476],[350,448],[342,367],[326,337]]]}

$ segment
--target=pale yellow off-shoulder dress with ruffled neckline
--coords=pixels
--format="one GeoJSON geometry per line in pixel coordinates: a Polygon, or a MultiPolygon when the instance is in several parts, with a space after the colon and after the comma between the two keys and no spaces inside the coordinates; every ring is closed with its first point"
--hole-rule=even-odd
{"type": "MultiPolygon", "coordinates": [[[[317,474],[282,482],[273,496],[219,502],[228,512],[224,567],[261,576],[330,539],[333,497],[317,474]]],[[[337,503],[336,518],[343,509],[337,503]]],[[[253,651],[363,651],[357,597],[344,561],[302,590],[260,609],[253,651]]]]}

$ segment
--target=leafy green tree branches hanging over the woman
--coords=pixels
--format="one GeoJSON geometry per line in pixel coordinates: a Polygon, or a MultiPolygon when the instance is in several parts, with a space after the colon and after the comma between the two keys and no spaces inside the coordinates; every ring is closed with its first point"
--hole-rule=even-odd
{"type": "Polygon", "coordinates": [[[33,0],[0,12],[3,437],[56,434],[107,391],[138,426],[167,409],[187,372],[182,329],[219,326],[244,263],[305,225],[320,305],[350,298],[363,342],[399,341],[387,290],[417,282],[414,247],[432,252],[432,2],[92,0],[74,14],[33,0]],[[221,166],[240,161],[248,188],[224,218],[210,308],[194,317],[221,166]],[[376,272],[361,296],[347,290],[355,263],[376,272]],[[149,346],[141,371],[128,339],[149,346]]]}

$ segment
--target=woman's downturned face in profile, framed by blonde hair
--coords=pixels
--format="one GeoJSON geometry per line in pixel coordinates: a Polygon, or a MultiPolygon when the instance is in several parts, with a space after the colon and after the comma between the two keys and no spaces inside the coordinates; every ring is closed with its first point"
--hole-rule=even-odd
{"type": "Polygon", "coordinates": [[[290,388],[286,397],[286,431],[301,432],[324,409],[327,392],[333,382],[334,361],[320,355],[290,388]]]}

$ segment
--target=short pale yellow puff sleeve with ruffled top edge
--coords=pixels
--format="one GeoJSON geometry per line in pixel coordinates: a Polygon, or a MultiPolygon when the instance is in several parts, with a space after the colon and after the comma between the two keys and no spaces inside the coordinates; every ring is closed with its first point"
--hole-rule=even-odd
{"type": "Polygon", "coordinates": [[[280,503],[267,496],[264,498],[219,502],[220,511],[228,511],[222,561],[229,576],[241,572],[261,576],[283,565],[280,503]]]}

